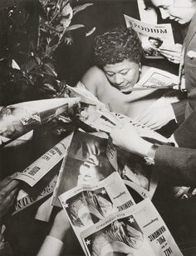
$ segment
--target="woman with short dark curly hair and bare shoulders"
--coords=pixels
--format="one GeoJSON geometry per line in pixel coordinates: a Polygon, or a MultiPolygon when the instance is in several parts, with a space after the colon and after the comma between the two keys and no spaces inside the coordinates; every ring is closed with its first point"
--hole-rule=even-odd
{"type": "Polygon", "coordinates": [[[96,66],[86,71],[81,83],[110,111],[135,118],[164,94],[156,89],[134,91],[149,70],[141,65],[143,54],[133,28],[112,28],[96,37],[96,66]]]}

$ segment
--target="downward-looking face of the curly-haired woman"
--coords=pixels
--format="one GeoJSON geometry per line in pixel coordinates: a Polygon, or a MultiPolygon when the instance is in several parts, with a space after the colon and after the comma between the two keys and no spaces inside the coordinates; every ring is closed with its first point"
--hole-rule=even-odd
{"type": "Polygon", "coordinates": [[[139,79],[139,64],[125,59],[121,63],[106,64],[103,68],[109,82],[122,93],[130,93],[139,79]]]}

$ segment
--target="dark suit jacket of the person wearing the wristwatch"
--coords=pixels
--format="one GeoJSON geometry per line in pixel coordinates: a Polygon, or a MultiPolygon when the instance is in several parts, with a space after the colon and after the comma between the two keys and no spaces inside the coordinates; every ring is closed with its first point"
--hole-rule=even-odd
{"type": "Polygon", "coordinates": [[[196,108],[174,132],[180,148],[159,146],[155,166],[175,185],[196,186],[196,108]]]}

